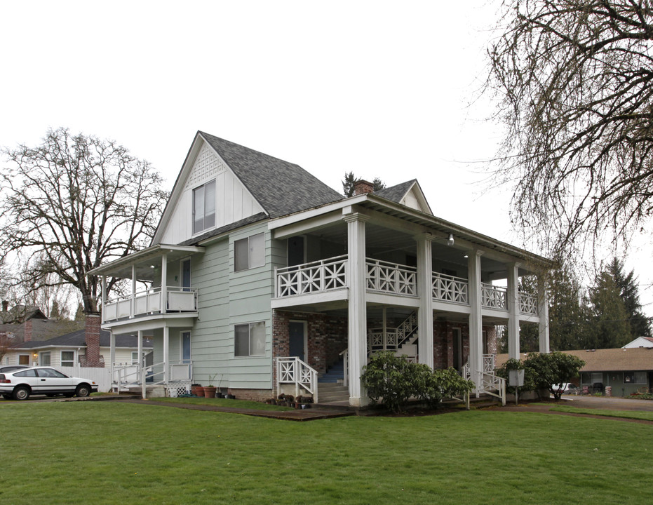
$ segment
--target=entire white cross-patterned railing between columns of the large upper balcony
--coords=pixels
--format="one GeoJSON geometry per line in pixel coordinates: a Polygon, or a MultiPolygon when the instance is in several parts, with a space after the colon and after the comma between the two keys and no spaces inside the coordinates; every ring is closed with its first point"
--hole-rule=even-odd
{"type": "MultiPolygon", "coordinates": [[[[276,269],[276,299],[297,299],[305,295],[327,294],[348,288],[347,256],[299,264],[276,269]]],[[[367,258],[365,279],[368,293],[383,293],[398,297],[417,298],[417,269],[367,258]]],[[[431,293],[434,302],[450,304],[451,309],[469,307],[469,281],[466,278],[433,272],[431,293]]],[[[288,300],[289,301],[289,300],[288,300]]],[[[508,290],[489,283],[481,284],[481,305],[484,309],[508,314],[508,290]]],[[[537,297],[519,293],[519,312],[524,316],[537,317],[537,297]]]]}

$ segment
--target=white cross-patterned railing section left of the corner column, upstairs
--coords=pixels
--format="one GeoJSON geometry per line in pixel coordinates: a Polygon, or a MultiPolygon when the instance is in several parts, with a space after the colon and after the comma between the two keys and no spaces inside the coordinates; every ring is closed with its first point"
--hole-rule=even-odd
{"type": "Polygon", "coordinates": [[[346,288],[346,268],[347,257],[344,255],[276,269],[276,296],[281,298],[346,288]]]}

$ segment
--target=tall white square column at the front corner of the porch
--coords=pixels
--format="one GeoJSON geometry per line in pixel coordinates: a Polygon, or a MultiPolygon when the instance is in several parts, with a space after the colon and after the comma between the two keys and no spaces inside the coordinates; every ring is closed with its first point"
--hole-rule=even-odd
{"type": "Polygon", "coordinates": [[[368,311],[365,305],[365,221],[358,213],[344,215],[347,223],[347,279],[349,284],[349,405],[367,405],[361,384],[363,366],[368,363],[368,311]]]}

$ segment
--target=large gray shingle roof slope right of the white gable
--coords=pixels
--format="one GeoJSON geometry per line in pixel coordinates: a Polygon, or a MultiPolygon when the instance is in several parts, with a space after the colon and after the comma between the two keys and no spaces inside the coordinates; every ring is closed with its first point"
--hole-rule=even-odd
{"type": "Polygon", "coordinates": [[[288,163],[208,133],[198,133],[234,170],[238,179],[270,217],[296,213],[344,198],[295,163],[288,163]]]}

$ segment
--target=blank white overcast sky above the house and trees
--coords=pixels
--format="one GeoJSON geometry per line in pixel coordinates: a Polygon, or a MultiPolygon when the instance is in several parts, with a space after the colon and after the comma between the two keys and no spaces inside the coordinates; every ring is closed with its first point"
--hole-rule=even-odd
{"type": "Polygon", "coordinates": [[[350,170],[417,178],[438,217],[521,245],[509,189],[483,182],[501,139],[479,99],[496,4],[4,1],[0,145],[59,126],[109,137],[171,189],[203,130],[337,191],[350,170]]]}

